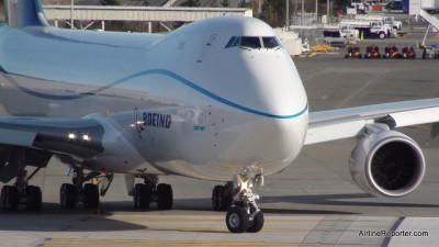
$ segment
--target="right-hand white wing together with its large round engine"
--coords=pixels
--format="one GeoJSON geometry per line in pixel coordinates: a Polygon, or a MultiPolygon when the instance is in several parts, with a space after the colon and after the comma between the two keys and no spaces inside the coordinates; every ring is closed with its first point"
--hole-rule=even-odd
{"type": "Polygon", "coordinates": [[[393,128],[437,122],[439,99],[315,112],[305,145],[357,137],[349,157],[352,179],[371,194],[403,197],[423,181],[426,160],[415,141],[393,128]]]}

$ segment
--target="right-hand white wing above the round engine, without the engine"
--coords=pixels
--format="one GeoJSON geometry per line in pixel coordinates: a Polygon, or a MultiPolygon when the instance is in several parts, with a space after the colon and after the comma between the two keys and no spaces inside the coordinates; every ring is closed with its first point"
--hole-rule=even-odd
{"type": "Polygon", "coordinates": [[[309,114],[305,145],[361,136],[369,124],[396,128],[436,122],[439,122],[439,99],[314,112],[309,114]]]}

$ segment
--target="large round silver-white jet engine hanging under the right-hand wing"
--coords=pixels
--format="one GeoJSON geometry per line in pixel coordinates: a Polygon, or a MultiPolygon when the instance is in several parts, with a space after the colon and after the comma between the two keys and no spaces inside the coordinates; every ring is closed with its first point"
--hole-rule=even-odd
{"type": "Polygon", "coordinates": [[[357,143],[349,168],[365,192],[396,198],[419,186],[426,164],[420,147],[410,137],[395,131],[378,131],[357,143]]]}

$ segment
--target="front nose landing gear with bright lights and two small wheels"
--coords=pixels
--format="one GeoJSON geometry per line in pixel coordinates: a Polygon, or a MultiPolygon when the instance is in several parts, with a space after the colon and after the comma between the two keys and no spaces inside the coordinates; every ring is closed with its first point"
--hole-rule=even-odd
{"type": "Polygon", "coordinates": [[[227,211],[226,225],[230,233],[258,233],[263,227],[263,213],[256,204],[255,188],[263,186],[262,169],[249,166],[234,177],[233,201],[227,211]]]}

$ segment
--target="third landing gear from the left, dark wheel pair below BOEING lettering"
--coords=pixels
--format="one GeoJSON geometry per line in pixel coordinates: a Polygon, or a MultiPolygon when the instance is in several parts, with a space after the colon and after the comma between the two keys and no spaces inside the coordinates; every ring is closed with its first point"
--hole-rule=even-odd
{"type": "Polygon", "coordinates": [[[134,187],[134,207],[148,210],[149,204],[156,202],[159,210],[171,210],[173,205],[172,187],[158,183],[157,176],[145,176],[144,180],[144,183],[136,183],[134,187]]]}

